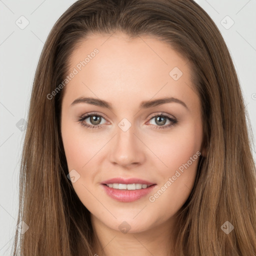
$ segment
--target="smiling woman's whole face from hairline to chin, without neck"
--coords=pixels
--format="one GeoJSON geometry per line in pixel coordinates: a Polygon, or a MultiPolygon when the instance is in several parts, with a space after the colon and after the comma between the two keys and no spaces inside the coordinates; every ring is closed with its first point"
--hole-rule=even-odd
{"type": "Polygon", "coordinates": [[[202,142],[188,61],[153,37],[123,33],[91,35],[69,60],[61,135],[77,196],[117,231],[174,223],[202,142]]]}

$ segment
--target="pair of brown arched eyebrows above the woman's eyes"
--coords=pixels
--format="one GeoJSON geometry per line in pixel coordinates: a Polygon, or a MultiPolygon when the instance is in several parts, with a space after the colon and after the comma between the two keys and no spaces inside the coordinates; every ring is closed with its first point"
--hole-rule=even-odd
{"type": "MultiPolygon", "coordinates": [[[[158,106],[161,104],[165,104],[165,103],[171,103],[171,102],[175,102],[175,103],[179,103],[181,105],[183,105],[185,108],[188,109],[187,105],[181,101],[178,98],[174,98],[174,97],[164,97],[164,98],[158,98],[158,99],[153,99],[153,100],[145,100],[142,101],[139,105],[139,108],[150,108],[153,106],[158,106]]],[[[99,98],[92,98],[92,97],[79,97],[76,98],[72,103],[72,105],[75,105],[77,103],[88,103],[91,105],[96,105],[96,106],[100,106],[100,107],[105,107],[108,108],[110,110],[113,110],[112,104],[103,100],[103,99],[99,99],[99,98]]]]}

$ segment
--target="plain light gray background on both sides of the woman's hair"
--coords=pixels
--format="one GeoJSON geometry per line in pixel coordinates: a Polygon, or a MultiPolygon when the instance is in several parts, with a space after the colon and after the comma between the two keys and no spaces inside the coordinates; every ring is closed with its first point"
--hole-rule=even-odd
{"type": "MultiPolygon", "coordinates": [[[[27,120],[32,81],[43,43],[58,17],[73,2],[0,0],[0,255],[10,255],[17,219],[24,131],[16,123],[21,118],[27,120]],[[23,29],[19,27],[25,24],[22,15],[29,22],[23,29]]],[[[255,134],[256,0],[196,2],[214,20],[229,48],[255,134]],[[227,15],[234,21],[231,27],[232,20],[227,15]]],[[[256,159],[255,148],[252,149],[256,159]]]]}

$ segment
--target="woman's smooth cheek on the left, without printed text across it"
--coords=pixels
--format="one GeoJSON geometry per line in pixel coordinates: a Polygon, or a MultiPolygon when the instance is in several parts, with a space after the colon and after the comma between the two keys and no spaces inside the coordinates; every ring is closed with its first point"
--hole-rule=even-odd
{"type": "Polygon", "coordinates": [[[73,169],[78,172],[79,178],[72,182],[72,186],[83,202],[91,199],[88,190],[92,190],[97,174],[97,157],[102,147],[102,140],[98,136],[90,136],[84,129],[86,128],[75,121],[65,117],[62,119],[61,135],[68,172],[73,169]]]}

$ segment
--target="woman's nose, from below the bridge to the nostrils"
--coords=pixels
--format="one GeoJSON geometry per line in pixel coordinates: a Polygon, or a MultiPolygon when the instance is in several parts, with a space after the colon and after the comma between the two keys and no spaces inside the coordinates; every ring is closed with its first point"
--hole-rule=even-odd
{"type": "Polygon", "coordinates": [[[146,146],[136,134],[133,125],[126,131],[117,126],[116,133],[110,145],[110,161],[126,168],[142,164],[145,160],[143,150],[146,146]]]}

